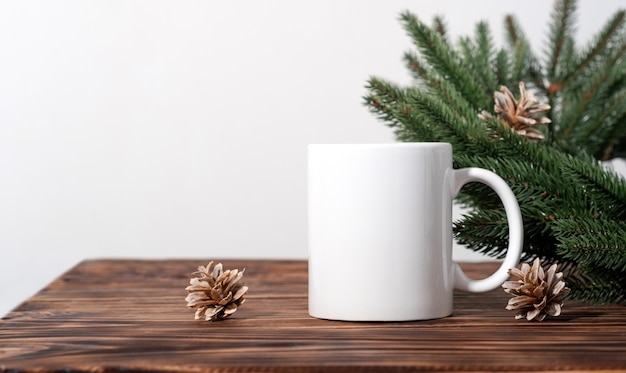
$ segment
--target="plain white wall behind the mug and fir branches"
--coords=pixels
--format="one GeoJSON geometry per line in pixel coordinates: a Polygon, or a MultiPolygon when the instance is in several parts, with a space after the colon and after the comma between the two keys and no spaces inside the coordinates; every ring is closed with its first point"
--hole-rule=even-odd
{"type": "Polygon", "coordinates": [[[551,6],[0,1],[0,314],[87,258],[306,258],[307,144],[394,141],[362,96],[410,83],[399,13],[498,45],[514,13],[541,55],[551,6]]]}

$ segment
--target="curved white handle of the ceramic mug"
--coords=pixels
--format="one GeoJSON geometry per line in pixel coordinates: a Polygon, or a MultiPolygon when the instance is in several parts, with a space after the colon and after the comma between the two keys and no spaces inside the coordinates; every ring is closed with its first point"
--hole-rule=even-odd
{"type": "Polygon", "coordinates": [[[476,167],[454,170],[453,198],[456,197],[463,185],[473,181],[491,187],[498,194],[504,205],[509,224],[509,246],[506,257],[500,268],[491,276],[482,280],[472,280],[463,273],[458,263],[454,263],[454,287],[463,291],[481,293],[500,287],[509,278],[509,268],[519,264],[524,243],[524,227],[522,213],[513,191],[500,176],[491,171],[476,167]]]}

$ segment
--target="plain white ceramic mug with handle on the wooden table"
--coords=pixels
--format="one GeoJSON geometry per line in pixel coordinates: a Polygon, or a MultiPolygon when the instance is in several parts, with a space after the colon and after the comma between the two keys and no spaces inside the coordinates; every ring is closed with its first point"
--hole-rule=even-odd
{"type": "Polygon", "coordinates": [[[351,321],[452,314],[452,293],[499,287],[518,265],[522,216],[513,192],[481,168],[452,168],[447,143],[309,145],[309,313],[351,321]],[[481,182],[500,197],[509,246],[491,276],[452,261],[452,200],[481,182]]]}

